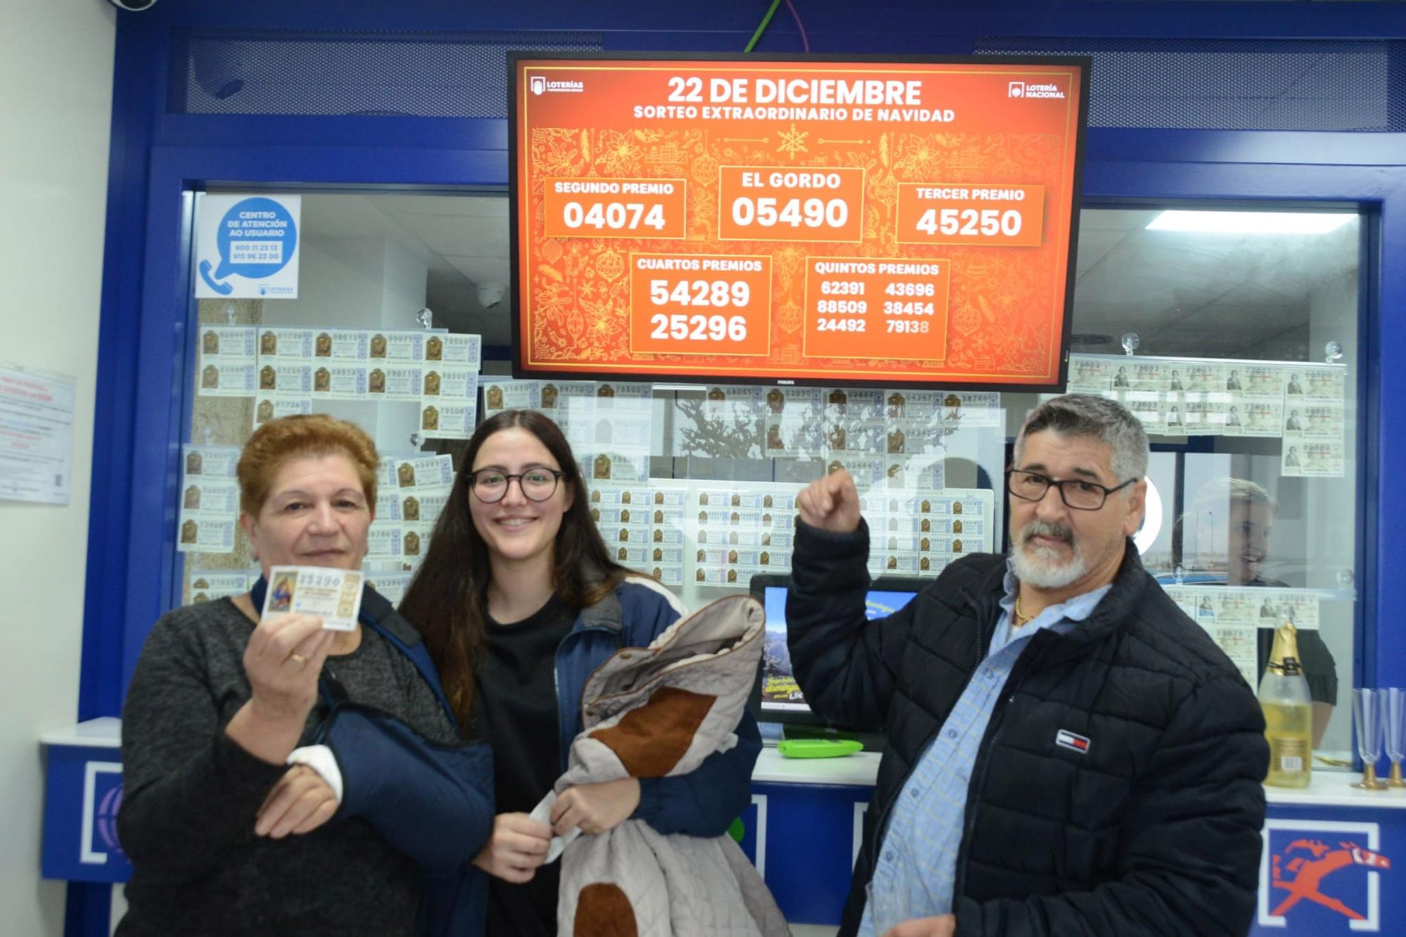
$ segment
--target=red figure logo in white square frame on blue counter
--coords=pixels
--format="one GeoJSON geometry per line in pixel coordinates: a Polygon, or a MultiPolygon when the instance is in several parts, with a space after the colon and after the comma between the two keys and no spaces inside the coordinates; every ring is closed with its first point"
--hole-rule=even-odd
{"type": "Polygon", "coordinates": [[[1260,926],[1381,933],[1381,882],[1392,861],[1376,823],[1268,819],[1260,926]],[[1365,846],[1364,846],[1365,844],[1365,846]]]}

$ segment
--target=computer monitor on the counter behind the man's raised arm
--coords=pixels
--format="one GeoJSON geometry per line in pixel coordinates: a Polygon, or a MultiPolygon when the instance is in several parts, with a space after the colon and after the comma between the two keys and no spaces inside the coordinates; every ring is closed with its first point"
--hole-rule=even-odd
{"type": "MultiPolygon", "coordinates": [[[[882,575],[869,585],[865,597],[865,612],[872,619],[893,615],[912,597],[929,585],[932,580],[911,575],[882,575]]],[[[806,703],[804,694],[796,685],[792,670],[790,649],[786,644],[786,595],[790,591],[789,575],[759,574],[751,580],[749,591],[766,609],[766,642],[756,684],[752,689],[752,715],[761,723],[782,723],[789,737],[859,737],[865,747],[875,747],[875,737],[846,726],[831,725],[824,716],[815,715],[806,703]]],[[[765,732],[765,734],[776,734],[765,732]]]]}

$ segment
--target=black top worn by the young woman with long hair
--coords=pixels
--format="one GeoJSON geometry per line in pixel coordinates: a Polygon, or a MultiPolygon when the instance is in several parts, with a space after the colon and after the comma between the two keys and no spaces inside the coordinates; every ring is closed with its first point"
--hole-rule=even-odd
{"type": "MultiPolygon", "coordinates": [[[[553,597],[512,625],[489,619],[478,664],[475,727],[494,750],[494,793],[499,813],[529,813],[561,777],[557,727],[557,644],[576,616],[553,597]]],[[[561,864],[537,869],[530,882],[489,879],[488,933],[557,933],[561,864]]]]}

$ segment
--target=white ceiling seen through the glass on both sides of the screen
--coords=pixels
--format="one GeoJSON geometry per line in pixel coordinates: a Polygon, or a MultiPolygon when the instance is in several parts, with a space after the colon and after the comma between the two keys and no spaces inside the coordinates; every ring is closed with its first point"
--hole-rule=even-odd
{"type": "MultiPolygon", "coordinates": [[[[478,298],[479,284],[509,286],[506,196],[309,194],[304,204],[305,238],[335,250],[346,232],[378,228],[425,260],[436,325],[510,342],[510,291],[492,308],[478,298]]],[[[1313,291],[1354,277],[1357,224],[1323,235],[1147,231],[1156,215],[1080,215],[1073,331],[1108,340],[1074,350],[1118,352],[1118,339],[1136,332],[1140,355],[1317,357],[1308,348],[1313,291]]]]}

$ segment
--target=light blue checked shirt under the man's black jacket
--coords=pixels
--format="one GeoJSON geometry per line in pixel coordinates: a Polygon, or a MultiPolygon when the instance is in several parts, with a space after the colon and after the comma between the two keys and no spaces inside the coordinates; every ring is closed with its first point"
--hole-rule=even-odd
{"type": "Polygon", "coordinates": [[[1045,627],[1059,633],[1073,630],[1111,588],[1105,585],[1052,605],[1012,633],[1017,580],[1007,561],[1001,620],[991,636],[991,649],[890,808],[889,829],[875,857],[869,900],[859,924],[863,937],[883,934],[914,917],[952,913],[967,784],[995,701],[1015,661],[1029,646],[1031,635],[1045,627]]]}

